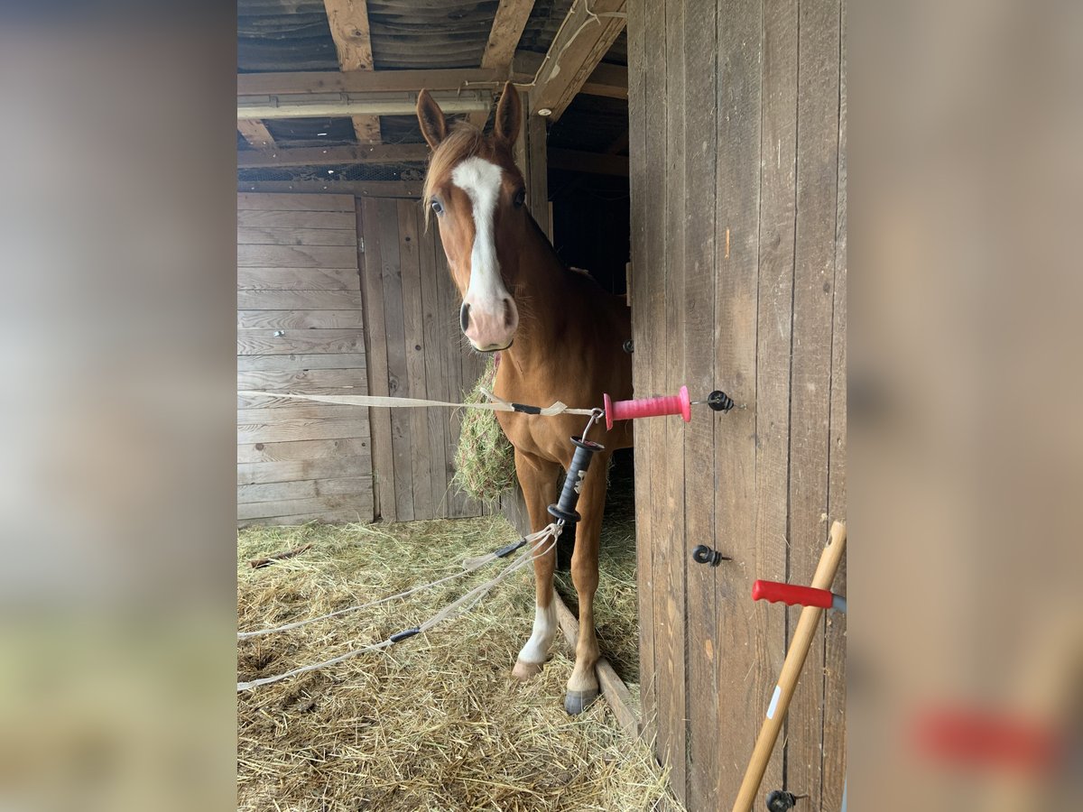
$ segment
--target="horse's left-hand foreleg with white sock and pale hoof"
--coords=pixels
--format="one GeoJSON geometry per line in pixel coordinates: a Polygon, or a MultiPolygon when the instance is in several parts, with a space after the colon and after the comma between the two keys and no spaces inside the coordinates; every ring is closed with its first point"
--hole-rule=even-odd
{"type": "MultiPolygon", "coordinates": [[[[552,519],[546,508],[557,501],[559,466],[532,454],[516,450],[516,473],[523,488],[531,529],[537,533],[552,519]]],[[[557,565],[557,550],[534,559],[534,630],[526,645],[519,652],[511,676],[529,680],[540,672],[549,658],[549,649],[557,636],[557,607],[552,602],[552,572],[557,565]]]]}

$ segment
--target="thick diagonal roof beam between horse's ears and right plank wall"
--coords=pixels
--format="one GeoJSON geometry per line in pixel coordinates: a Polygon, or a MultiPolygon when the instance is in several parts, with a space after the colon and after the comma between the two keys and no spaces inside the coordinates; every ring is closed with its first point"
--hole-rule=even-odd
{"type": "Polygon", "coordinates": [[[531,115],[549,109],[557,120],[624,30],[626,0],[576,2],[542,64],[531,93],[531,115]]]}

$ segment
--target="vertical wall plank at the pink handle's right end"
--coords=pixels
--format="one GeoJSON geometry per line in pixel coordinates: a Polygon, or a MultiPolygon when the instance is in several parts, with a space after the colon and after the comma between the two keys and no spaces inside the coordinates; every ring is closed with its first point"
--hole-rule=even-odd
{"type": "MultiPolygon", "coordinates": [[[[715,250],[716,166],[718,156],[718,94],[714,54],[718,29],[715,0],[693,0],[687,4],[679,48],[681,62],[667,63],[670,70],[684,70],[684,95],[677,100],[683,107],[683,174],[684,208],[683,261],[684,275],[683,326],[684,375],[681,380],[690,392],[707,393],[716,388],[715,346],[713,337],[718,262],[715,250]],[[709,55],[712,69],[703,69],[701,60],[709,55]],[[683,64],[682,64],[683,63],[683,64]]],[[[668,15],[668,12],[667,12],[668,15]]],[[[702,396],[702,395],[701,395],[702,396]]],[[[680,558],[687,568],[687,719],[688,719],[688,804],[690,809],[721,809],[723,797],[717,781],[720,748],[718,746],[718,680],[717,658],[717,577],[718,569],[694,563],[689,548],[695,543],[726,546],[729,529],[720,536],[715,521],[717,482],[709,472],[715,464],[716,427],[725,430],[727,416],[714,411],[697,414],[684,435],[684,470],[682,472],[686,519],[680,558]],[[712,697],[704,700],[704,697],[712,697]]]]}

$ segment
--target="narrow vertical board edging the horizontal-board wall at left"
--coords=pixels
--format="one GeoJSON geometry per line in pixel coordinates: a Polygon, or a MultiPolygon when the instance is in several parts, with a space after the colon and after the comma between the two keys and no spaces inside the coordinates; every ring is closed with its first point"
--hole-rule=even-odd
{"type": "MultiPolygon", "coordinates": [[[[388,394],[387,326],[383,318],[382,253],[378,231],[378,206],[363,200],[357,206],[357,233],[367,234],[362,290],[365,300],[365,357],[368,361],[368,385],[374,395],[388,394]]],[[[376,515],[386,521],[397,519],[395,511],[395,469],[391,446],[391,409],[369,409],[373,432],[373,477],[376,515]]]]}

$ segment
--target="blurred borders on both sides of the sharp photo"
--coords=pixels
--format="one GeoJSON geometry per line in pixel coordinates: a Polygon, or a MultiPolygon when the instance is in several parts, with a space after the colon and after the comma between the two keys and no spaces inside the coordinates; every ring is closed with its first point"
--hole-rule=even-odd
{"type": "MultiPolygon", "coordinates": [[[[1081,809],[1083,4],[847,12],[850,795],[1081,809]]],[[[0,809],[235,804],[235,25],[0,3],[0,809]]]]}

